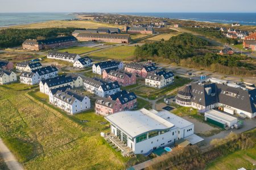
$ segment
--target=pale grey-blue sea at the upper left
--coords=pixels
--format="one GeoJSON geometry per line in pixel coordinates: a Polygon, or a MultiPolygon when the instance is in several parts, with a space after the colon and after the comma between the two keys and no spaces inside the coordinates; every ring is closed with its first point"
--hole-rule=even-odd
{"type": "Polygon", "coordinates": [[[76,18],[68,13],[0,13],[0,27],[76,18]]]}

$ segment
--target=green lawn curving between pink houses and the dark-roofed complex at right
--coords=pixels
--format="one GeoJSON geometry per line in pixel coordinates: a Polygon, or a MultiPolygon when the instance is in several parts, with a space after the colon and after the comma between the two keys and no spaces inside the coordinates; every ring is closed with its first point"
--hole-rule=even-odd
{"type": "Polygon", "coordinates": [[[168,95],[175,88],[184,86],[184,84],[188,84],[189,82],[191,82],[191,80],[188,78],[175,76],[174,83],[160,90],[153,87],[142,86],[134,89],[133,91],[136,95],[145,97],[150,100],[155,100],[160,96],[168,95]]]}

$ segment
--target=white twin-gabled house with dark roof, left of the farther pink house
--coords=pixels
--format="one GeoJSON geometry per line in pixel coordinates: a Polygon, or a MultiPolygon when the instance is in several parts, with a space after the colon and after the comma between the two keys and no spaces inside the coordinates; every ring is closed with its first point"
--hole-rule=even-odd
{"type": "Polygon", "coordinates": [[[123,67],[124,66],[122,61],[104,61],[104,62],[94,63],[94,65],[92,66],[92,70],[93,70],[93,73],[101,75],[103,71],[106,69],[118,68],[122,70],[123,67]]]}

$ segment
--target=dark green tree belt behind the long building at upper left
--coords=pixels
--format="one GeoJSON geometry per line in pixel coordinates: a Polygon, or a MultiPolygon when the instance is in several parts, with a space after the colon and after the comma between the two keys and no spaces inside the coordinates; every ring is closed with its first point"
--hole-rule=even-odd
{"type": "Polygon", "coordinates": [[[49,39],[59,35],[72,35],[81,28],[36,28],[36,29],[2,29],[0,30],[0,48],[19,46],[26,39],[49,39]]]}

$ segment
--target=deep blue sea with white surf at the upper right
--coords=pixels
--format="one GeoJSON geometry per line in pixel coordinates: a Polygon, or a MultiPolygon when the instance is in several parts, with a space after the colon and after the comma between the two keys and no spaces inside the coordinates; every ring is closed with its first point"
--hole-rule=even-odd
{"type": "Polygon", "coordinates": [[[196,20],[212,23],[240,23],[242,25],[256,25],[256,13],[224,13],[224,12],[125,12],[119,14],[154,16],[160,18],[196,20]]]}

